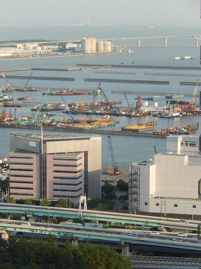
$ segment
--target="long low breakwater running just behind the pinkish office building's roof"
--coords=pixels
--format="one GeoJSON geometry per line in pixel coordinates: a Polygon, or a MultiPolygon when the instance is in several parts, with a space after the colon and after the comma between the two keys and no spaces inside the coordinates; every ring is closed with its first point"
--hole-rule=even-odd
{"type": "MultiPolygon", "coordinates": [[[[0,123],[0,128],[24,129],[24,130],[41,130],[40,126],[20,125],[20,124],[4,124],[0,123]]],[[[167,134],[155,134],[144,132],[129,132],[121,130],[98,130],[98,129],[82,129],[82,128],[67,128],[67,127],[52,127],[43,126],[44,131],[49,132],[67,132],[67,133],[82,133],[82,134],[98,134],[98,135],[117,135],[130,137],[146,137],[146,138],[166,138],[167,134]]]]}

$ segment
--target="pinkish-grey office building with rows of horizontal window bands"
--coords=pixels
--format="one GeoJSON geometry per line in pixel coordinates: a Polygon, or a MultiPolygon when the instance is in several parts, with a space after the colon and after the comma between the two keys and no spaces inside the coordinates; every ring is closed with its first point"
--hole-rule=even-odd
{"type": "Polygon", "coordinates": [[[101,136],[10,134],[15,199],[100,197],[101,136]]]}

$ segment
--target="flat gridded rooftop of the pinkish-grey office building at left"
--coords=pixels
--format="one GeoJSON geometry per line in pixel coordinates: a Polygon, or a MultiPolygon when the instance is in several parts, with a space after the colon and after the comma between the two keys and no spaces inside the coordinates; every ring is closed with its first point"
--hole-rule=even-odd
{"type": "MultiPolygon", "coordinates": [[[[41,140],[41,134],[40,133],[10,133],[9,135],[15,136],[15,137],[24,137],[24,138],[32,138],[41,140]]],[[[43,134],[43,140],[71,140],[71,139],[90,139],[93,137],[101,137],[99,135],[77,135],[77,134],[43,134]]]]}

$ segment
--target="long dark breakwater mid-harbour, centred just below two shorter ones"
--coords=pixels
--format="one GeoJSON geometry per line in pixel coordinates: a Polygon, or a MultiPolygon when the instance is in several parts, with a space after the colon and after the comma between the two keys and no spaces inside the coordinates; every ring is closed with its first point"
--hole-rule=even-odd
{"type": "Polygon", "coordinates": [[[170,81],[162,80],[132,80],[132,79],[103,79],[103,78],[84,78],[84,81],[91,82],[117,82],[117,83],[143,83],[143,84],[165,84],[169,85],[170,81]]]}

